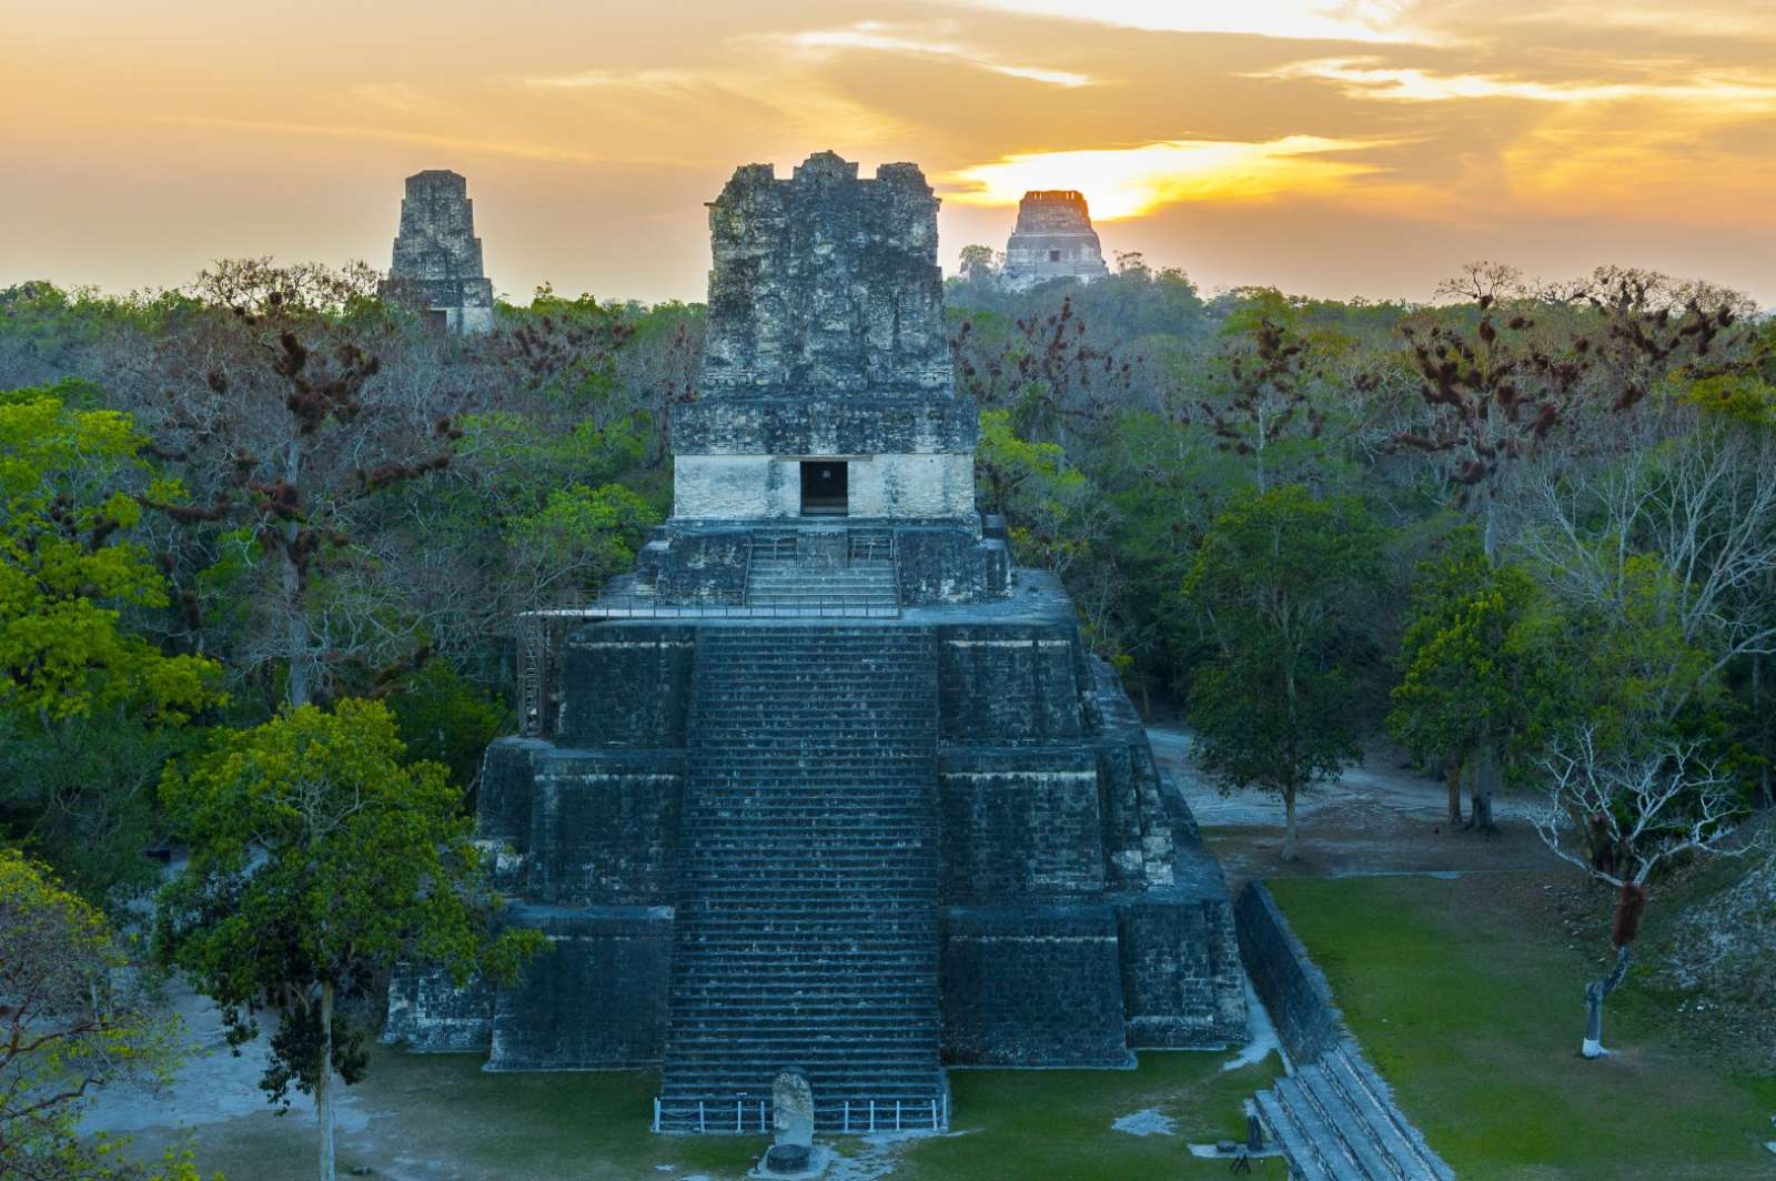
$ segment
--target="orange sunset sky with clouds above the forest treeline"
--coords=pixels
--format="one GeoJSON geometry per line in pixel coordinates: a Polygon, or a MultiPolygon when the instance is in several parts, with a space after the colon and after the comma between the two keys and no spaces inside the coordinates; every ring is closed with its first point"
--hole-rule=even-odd
{"type": "Polygon", "coordinates": [[[0,286],[387,266],[469,178],[497,291],[702,298],[735,165],[913,160],[941,258],[1080,188],[1204,289],[1600,263],[1776,304],[1776,0],[0,0],[0,286]]]}

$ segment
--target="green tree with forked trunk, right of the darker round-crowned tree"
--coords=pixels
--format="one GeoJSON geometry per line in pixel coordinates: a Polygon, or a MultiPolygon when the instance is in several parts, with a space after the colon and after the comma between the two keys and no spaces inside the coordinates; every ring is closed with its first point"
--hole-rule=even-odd
{"type": "Polygon", "coordinates": [[[1451,824],[1462,824],[1467,781],[1469,824],[1495,831],[1492,797],[1504,765],[1534,712],[1554,705],[1540,600],[1524,568],[1487,558],[1472,526],[1419,567],[1387,728],[1407,749],[1442,762],[1451,824]]]}

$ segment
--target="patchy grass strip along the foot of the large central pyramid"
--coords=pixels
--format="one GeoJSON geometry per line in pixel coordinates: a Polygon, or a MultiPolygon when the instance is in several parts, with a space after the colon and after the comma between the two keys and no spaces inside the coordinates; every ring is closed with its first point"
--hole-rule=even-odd
{"type": "MultiPolygon", "coordinates": [[[[1190,1140],[1243,1135],[1240,1101],[1280,1069],[1275,1055],[1222,1071],[1220,1053],[1147,1053],[1137,1071],[957,1071],[954,1131],[865,1144],[840,1140],[852,1177],[908,1181],[1142,1181],[1218,1177],[1227,1165],[1188,1156],[1190,1140]],[[1154,1108],[1176,1137],[1114,1131],[1119,1115],[1154,1108]]],[[[352,1089],[362,1126],[339,1133],[339,1174],[401,1181],[730,1181],[764,1153],[760,1137],[655,1137],[652,1071],[488,1074],[480,1058],[375,1048],[352,1089]]],[[[151,1129],[135,1151],[178,1138],[151,1129]]],[[[305,1181],[314,1176],[313,1115],[243,1115],[194,1129],[204,1176],[305,1181]]],[[[1284,1181],[1282,1163],[1254,1176],[1284,1181]]]]}

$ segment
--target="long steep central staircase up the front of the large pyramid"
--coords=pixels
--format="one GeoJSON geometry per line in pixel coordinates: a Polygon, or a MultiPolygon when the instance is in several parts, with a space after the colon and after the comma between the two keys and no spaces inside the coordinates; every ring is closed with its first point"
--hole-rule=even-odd
{"type": "Polygon", "coordinates": [[[821,1129],[943,1126],[932,632],[696,645],[659,1129],[767,1129],[785,1067],[821,1129]]]}

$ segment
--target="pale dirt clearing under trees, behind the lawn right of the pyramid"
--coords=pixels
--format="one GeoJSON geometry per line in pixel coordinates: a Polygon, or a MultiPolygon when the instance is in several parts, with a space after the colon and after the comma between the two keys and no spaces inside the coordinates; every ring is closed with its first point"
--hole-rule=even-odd
{"type": "Polygon", "coordinates": [[[1284,861],[1280,799],[1217,790],[1197,769],[1185,730],[1151,726],[1147,737],[1160,767],[1190,801],[1234,890],[1252,877],[1483,874],[1556,865],[1529,824],[1540,801],[1520,796],[1495,801],[1495,836],[1451,829],[1442,781],[1401,769],[1401,755],[1387,746],[1371,748],[1362,765],[1302,796],[1300,860],[1284,861]]]}

